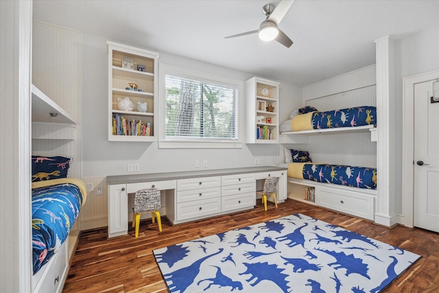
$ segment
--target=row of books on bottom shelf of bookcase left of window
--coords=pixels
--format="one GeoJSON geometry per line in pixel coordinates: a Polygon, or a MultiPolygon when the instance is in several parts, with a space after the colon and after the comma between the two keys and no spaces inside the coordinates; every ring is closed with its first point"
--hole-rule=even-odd
{"type": "Polygon", "coordinates": [[[126,119],[123,115],[112,115],[112,135],[129,135],[148,137],[151,135],[151,124],[137,119],[126,119]]]}

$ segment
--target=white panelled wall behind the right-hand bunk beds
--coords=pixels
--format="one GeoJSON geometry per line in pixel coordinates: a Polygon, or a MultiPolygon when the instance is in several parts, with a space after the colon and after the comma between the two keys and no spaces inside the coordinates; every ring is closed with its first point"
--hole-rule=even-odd
{"type": "MultiPolygon", "coordinates": [[[[302,102],[319,111],[377,106],[375,65],[306,86],[302,102]]],[[[314,135],[306,144],[284,147],[307,150],[317,163],[377,167],[377,143],[369,132],[314,135]]]]}

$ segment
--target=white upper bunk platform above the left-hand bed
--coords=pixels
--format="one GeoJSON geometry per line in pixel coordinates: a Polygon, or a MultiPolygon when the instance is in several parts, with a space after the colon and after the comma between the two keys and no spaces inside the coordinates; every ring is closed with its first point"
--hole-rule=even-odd
{"type": "Polygon", "coordinates": [[[69,113],[34,84],[32,84],[32,122],[76,124],[75,119],[69,113]],[[50,113],[56,113],[58,117],[51,117],[50,113]]]}

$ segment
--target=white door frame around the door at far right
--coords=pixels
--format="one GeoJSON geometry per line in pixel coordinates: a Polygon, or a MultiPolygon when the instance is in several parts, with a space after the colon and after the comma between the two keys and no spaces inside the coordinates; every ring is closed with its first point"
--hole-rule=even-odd
{"type": "Polygon", "coordinates": [[[408,227],[414,223],[414,86],[433,80],[439,80],[439,70],[403,78],[403,215],[399,222],[408,227]]]}

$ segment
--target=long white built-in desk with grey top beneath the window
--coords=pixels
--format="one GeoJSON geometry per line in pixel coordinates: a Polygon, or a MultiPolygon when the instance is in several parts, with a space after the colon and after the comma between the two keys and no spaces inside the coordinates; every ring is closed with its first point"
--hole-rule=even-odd
{"type": "Polygon", "coordinates": [[[108,237],[128,233],[128,195],[139,189],[161,190],[171,224],[254,208],[256,191],[269,176],[279,177],[278,202],[287,198],[287,168],[244,167],[187,172],[107,176],[108,237]],[[259,186],[260,185],[260,186],[259,186]]]}

